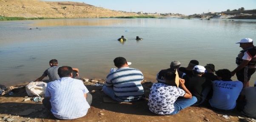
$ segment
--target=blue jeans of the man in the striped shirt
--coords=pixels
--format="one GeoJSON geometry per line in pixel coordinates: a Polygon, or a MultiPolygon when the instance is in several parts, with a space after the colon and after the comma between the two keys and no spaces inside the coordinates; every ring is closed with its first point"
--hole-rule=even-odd
{"type": "Polygon", "coordinates": [[[102,87],[102,90],[105,94],[107,94],[109,97],[111,97],[112,99],[116,100],[117,102],[134,102],[134,101],[138,101],[138,100],[141,100],[143,99],[144,97],[139,97],[139,98],[136,98],[134,99],[134,97],[129,97],[131,99],[120,99],[118,98],[116,95],[115,95],[115,92],[114,92],[114,89],[113,87],[107,87],[107,86],[103,86],[102,87]]]}

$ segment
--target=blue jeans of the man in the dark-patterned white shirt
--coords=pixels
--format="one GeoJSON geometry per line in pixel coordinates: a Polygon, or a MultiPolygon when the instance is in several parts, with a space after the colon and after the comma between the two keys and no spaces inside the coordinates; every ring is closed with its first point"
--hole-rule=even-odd
{"type": "Polygon", "coordinates": [[[196,97],[192,97],[191,99],[187,99],[187,98],[177,99],[174,102],[174,111],[169,115],[178,114],[180,110],[187,108],[188,106],[191,106],[196,102],[197,102],[196,97]]]}

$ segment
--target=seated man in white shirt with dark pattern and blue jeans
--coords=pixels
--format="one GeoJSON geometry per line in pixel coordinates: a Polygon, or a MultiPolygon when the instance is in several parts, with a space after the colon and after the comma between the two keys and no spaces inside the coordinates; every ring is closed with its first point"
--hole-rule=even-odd
{"type": "Polygon", "coordinates": [[[150,88],[148,106],[151,112],[160,115],[174,115],[196,103],[197,99],[192,97],[192,94],[184,85],[184,79],[179,78],[182,89],[176,86],[175,72],[166,72],[164,79],[165,83],[154,83],[150,88]],[[177,100],[179,96],[184,98],[177,100]]]}

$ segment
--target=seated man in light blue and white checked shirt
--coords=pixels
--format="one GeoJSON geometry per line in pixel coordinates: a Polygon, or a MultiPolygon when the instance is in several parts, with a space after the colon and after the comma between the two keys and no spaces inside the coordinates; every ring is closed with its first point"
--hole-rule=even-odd
{"type": "Polygon", "coordinates": [[[76,119],[87,114],[92,96],[81,80],[72,78],[72,68],[58,69],[59,80],[47,83],[43,105],[59,119],[76,119]]]}

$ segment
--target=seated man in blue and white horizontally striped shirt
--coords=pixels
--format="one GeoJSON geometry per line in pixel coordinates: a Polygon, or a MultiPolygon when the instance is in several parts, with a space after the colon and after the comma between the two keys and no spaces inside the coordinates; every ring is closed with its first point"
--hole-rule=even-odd
{"type": "Polygon", "coordinates": [[[144,98],[142,72],[129,68],[128,64],[131,63],[123,57],[115,58],[114,64],[118,69],[108,74],[103,92],[118,102],[133,102],[144,98]]]}

